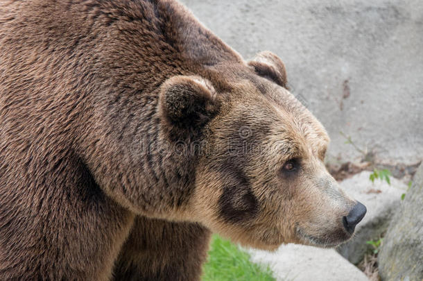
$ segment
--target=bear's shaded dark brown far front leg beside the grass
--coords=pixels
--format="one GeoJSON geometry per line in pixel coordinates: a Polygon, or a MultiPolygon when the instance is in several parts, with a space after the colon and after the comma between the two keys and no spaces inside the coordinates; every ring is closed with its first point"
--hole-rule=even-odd
{"type": "Polygon", "coordinates": [[[196,280],[208,246],[209,230],[201,225],[137,217],[114,279],[196,280]]]}

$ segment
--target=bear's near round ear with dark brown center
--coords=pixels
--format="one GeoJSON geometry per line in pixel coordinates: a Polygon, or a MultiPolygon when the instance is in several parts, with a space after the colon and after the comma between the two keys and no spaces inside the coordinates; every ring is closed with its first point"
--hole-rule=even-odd
{"type": "Polygon", "coordinates": [[[181,130],[180,133],[196,130],[216,114],[218,103],[215,96],[212,83],[200,76],[169,78],[163,83],[159,95],[162,121],[181,130]]]}

